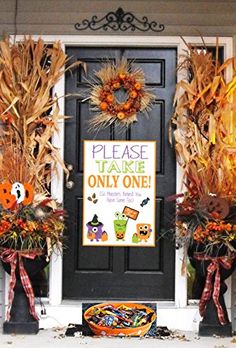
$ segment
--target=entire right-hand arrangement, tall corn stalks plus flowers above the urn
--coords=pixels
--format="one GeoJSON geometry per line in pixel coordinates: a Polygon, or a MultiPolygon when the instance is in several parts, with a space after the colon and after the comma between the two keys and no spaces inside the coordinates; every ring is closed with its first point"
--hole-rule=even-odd
{"type": "Polygon", "coordinates": [[[184,186],[174,197],[176,242],[202,245],[206,253],[224,246],[230,254],[236,240],[235,59],[220,64],[218,45],[215,58],[206,47],[186,45],[179,68],[188,75],[177,84],[172,117],[184,186]]]}

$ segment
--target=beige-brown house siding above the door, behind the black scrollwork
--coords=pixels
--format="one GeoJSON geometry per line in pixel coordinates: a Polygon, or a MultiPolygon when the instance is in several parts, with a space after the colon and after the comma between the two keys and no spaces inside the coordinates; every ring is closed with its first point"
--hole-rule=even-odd
{"type": "MultiPolygon", "coordinates": [[[[118,7],[131,11],[139,18],[145,15],[149,20],[163,23],[165,30],[158,35],[196,36],[199,32],[205,36],[236,34],[234,0],[18,0],[16,29],[18,34],[94,34],[86,30],[78,32],[74,24],[86,18],[91,19],[92,15],[101,18],[118,7]]],[[[14,33],[15,0],[0,0],[0,8],[1,32],[14,33]]],[[[95,33],[101,32],[104,34],[104,31],[95,33]]],[[[133,35],[139,33],[134,32],[133,35]]]]}

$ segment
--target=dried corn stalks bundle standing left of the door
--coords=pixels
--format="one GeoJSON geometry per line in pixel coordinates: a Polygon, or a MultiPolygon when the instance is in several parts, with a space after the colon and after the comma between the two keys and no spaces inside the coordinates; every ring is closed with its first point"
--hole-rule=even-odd
{"type": "Polygon", "coordinates": [[[44,195],[58,164],[67,173],[51,143],[63,118],[53,87],[67,61],[60,42],[47,46],[31,37],[16,44],[0,41],[1,182],[28,182],[44,195]]]}

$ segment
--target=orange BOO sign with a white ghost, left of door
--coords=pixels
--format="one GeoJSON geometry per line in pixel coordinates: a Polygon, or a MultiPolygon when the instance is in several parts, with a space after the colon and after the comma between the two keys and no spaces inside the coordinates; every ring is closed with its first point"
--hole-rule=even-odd
{"type": "Polygon", "coordinates": [[[33,197],[33,187],[29,183],[4,182],[0,184],[0,202],[4,209],[13,209],[20,203],[26,206],[32,203],[33,197]]]}

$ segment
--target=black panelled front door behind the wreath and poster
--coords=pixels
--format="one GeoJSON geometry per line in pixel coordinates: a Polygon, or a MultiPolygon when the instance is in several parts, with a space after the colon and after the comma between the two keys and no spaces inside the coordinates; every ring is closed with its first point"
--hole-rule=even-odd
{"type": "Polygon", "coordinates": [[[156,140],[156,231],[170,227],[173,208],[165,198],[175,193],[176,165],[174,151],[168,143],[168,122],[176,84],[175,48],[85,48],[68,47],[68,56],[87,64],[87,76],[77,69],[66,76],[66,94],[78,97],[66,99],[66,115],[72,118],[65,126],[65,161],[73,166],[72,189],[64,189],[67,220],[67,250],[63,257],[63,298],[93,300],[173,300],[175,279],[174,243],[161,239],[155,248],[83,247],[83,140],[156,140]],[[88,132],[88,120],[93,117],[88,102],[88,80],[107,60],[126,57],[132,66],[141,67],[146,83],[156,100],[147,119],[139,115],[138,122],[123,133],[111,126],[97,134],[88,132]]]}

